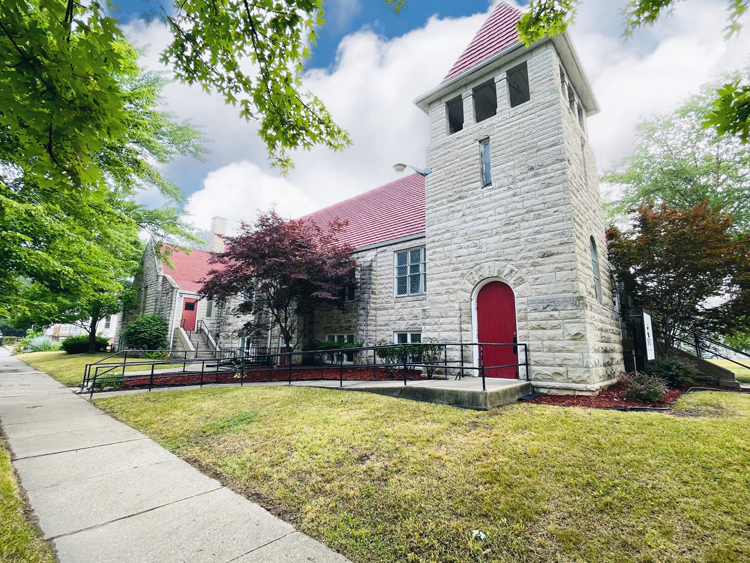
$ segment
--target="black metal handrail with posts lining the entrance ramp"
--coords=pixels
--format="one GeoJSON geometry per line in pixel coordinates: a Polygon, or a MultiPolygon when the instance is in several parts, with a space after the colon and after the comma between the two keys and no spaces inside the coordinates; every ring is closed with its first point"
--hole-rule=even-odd
{"type": "MultiPolygon", "coordinates": [[[[482,378],[482,390],[486,391],[486,378],[491,370],[512,369],[515,368],[515,375],[520,378],[519,370],[525,369],[524,377],[529,379],[529,352],[525,343],[414,343],[414,344],[388,344],[379,346],[362,346],[358,348],[337,348],[324,350],[301,350],[301,351],[273,351],[271,349],[253,349],[248,350],[225,350],[216,354],[213,358],[188,358],[184,353],[182,359],[167,358],[160,360],[140,360],[127,361],[127,357],[121,363],[101,363],[88,364],[84,372],[84,379],[81,382],[81,389],[89,388],[93,394],[94,389],[98,386],[104,386],[106,383],[118,383],[127,380],[142,380],[145,375],[149,375],[149,390],[154,386],[154,382],[164,379],[175,379],[176,377],[190,378],[194,377],[197,372],[197,366],[200,366],[200,385],[204,384],[204,374],[206,369],[212,370],[210,373],[218,374],[233,373],[239,374],[240,385],[244,384],[246,375],[269,372],[269,381],[273,381],[274,373],[285,372],[288,383],[291,385],[295,372],[306,372],[310,370],[319,370],[320,379],[330,379],[324,377],[324,371],[338,369],[339,384],[343,387],[344,367],[356,368],[359,370],[373,370],[373,379],[376,378],[378,369],[384,369],[387,373],[395,373],[397,370],[403,370],[404,385],[408,384],[409,372],[417,369],[432,370],[442,368],[443,375],[447,379],[450,372],[453,371],[455,377],[461,378],[466,372],[474,372],[482,378]],[[425,360],[420,353],[425,346],[437,347],[440,350],[438,359],[425,360]],[[493,347],[513,347],[516,363],[502,365],[487,365],[485,361],[488,348],[493,347]],[[449,354],[449,349],[458,352],[458,354],[449,354]],[[467,349],[475,355],[475,362],[466,361],[467,349]],[[395,353],[384,354],[383,351],[396,350],[395,353]],[[519,359],[519,352],[523,350],[523,361],[519,359]],[[380,352],[380,353],[379,353],[380,352]],[[332,364],[324,360],[333,354],[337,363],[332,364]],[[344,363],[346,355],[351,355],[353,362],[344,363]],[[390,356],[390,358],[389,358],[390,356]],[[315,363],[315,359],[321,360],[321,363],[315,363]],[[381,361],[378,361],[380,358],[381,361]],[[298,362],[295,362],[298,359],[298,362]],[[309,360],[313,363],[310,364],[309,360]],[[370,361],[372,360],[372,361],[370,361]],[[306,363],[308,362],[308,363],[306,363]],[[156,372],[160,366],[173,367],[175,364],[182,364],[182,370],[165,370],[165,372],[156,372]],[[188,365],[196,366],[195,369],[188,370],[188,365]],[[147,374],[127,374],[127,368],[144,367],[147,374]],[[118,373],[114,373],[117,371],[118,373]],[[167,373],[168,372],[168,373],[167,373]]],[[[428,373],[431,373],[428,371],[428,373]]],[[[309,378],[308,378],[309,379],[309,378]]],[[[515,378],[514,378],[515,379],[515,378]]]]}

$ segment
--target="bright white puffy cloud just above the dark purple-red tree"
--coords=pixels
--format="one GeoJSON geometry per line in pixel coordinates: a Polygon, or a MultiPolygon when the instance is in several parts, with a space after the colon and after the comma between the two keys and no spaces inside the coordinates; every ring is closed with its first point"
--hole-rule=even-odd
{"type": "Polygon", "coordinates": [[[251,222],[258,211],[275,208],[283,217],[298,217],[315,207],[302,190],[283,179],[269,176],[251,162],[235,162],[210,172],[203,189],[186,206],[192,222],[207,229],[215,216],[227,219],[230,233],[240,221],[251,222]]]}

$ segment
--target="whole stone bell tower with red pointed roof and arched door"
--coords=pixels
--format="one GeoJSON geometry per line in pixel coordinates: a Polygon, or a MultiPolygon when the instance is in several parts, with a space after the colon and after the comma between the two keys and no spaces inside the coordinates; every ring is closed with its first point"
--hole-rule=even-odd
{"type": "Polygon", "coordinates": [[[499,4],[417,100],[431,130],[424,336],[524,343],[530,373],[501,377],[595,393],[623,370],[587,137],[598,107],[570,39],[526,48],[520,15],[499,4]]]}

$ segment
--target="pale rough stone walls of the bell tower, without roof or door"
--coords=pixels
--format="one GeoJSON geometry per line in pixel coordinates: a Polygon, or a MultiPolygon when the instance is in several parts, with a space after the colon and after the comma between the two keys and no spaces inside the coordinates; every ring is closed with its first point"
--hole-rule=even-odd
{"type": "Polygon", "coordinates": [[[477,288],[504,281],[516,295],[518,337],[529,346],[532,379],[552,382],[549,389],[589,392],[619,373],[622,351],[595,160],[560,91],[558,68],[547,43],[477,76],[462,87],[467,119],[452,135],[444,103],[459,92],[431,105],[424,333],[473,341],[477,288]],[[511,108],[504,71],[524,59],[531,100],[511,108]],[[492,76],[497,115],[473,123],[471,88],[492,76]],[[487,137],[493,183],[482,187],[479,141],[487,137]],[[591,236],[599,249],[601,304],[593,297],[591,236]]]}

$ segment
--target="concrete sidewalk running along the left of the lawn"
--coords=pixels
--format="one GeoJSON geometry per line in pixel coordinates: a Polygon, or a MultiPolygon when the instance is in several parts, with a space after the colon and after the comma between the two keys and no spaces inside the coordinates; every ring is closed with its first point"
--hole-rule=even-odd
{"type": "Polygon", "coordinates": [[[346,563],[0,348],[0,424],[61,563],[346,563]]]}

